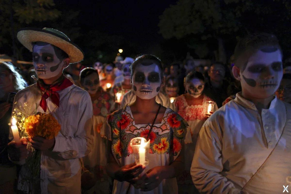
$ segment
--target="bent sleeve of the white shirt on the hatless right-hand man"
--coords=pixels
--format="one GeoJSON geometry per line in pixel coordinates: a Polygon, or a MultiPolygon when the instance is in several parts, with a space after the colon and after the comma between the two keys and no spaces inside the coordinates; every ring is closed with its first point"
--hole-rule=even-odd
{"type": "Polygon", "coordinates": [[[222,135],[217,132],[220,131],[218,121],[211,121],[211,127],[206,121],[199,132],[190,170],[194,185],[200,193],[240,193],[231,181],[220,174],[223,170],[222,135]]]}

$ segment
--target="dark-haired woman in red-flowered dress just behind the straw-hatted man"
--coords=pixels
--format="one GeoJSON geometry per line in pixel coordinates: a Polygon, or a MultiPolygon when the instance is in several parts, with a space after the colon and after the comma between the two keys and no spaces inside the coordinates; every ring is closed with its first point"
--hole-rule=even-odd
{"type": "Polygon", "coordinates": [[[100,87],[98,71],[86,67],[80,72],[80,83],[89,93],[93,106],[94,139],[92,151],[83,158],[85,168],[93,174],[91,184],[82,182],[86,193],[109,193],[109,177],[106,175],[106,139],[100,136],[103,121],[110,113],[113,99],[110,94],[100,87]]]}

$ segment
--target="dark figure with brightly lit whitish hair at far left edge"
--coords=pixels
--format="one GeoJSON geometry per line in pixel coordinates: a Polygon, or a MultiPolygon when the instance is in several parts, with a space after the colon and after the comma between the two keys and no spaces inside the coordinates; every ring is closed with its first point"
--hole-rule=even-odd
{"type": "Polygon", "coordinates": [[[27,86],[12,63],[0,62],[0,193],[14,193],[16,165],[8,159],[9,125],[16,92],[27,86]]]}

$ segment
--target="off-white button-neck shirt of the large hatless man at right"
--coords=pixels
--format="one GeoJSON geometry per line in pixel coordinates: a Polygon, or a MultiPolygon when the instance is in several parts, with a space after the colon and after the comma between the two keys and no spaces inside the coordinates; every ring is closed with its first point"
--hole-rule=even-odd
{"type": "Polygon", "coordinates": [[[241,92],[219,108],[202,126],[191,165],[192,180],[201,193],[281,193],[286,177],[291,175],[290,105],[277,98],[269,109],[259,114],[255,105],[241,92]],[[289,117],[288,117],[289,118],[289,117]],[[246,183],[267,159],[281,136],[276,152],[258,171],[253,181],[246,183]],[[284,153],[285,155],[282,155],[284,153]],[[278,165],[281,163],[282,165],[278,165]],[[268,172],[264,172],[266,169],[268,172]],[[270,173],[270,174],[269,174],[270,173]],[[245,186],[246,185],[246,186],[245,186]],[[243,188],[243,189],[242,189],[243,188]]]}

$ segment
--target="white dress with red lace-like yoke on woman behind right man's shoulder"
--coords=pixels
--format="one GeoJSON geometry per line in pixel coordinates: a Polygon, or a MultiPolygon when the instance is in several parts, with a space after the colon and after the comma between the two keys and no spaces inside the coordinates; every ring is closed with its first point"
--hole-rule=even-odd
{"type": "MultiPolygon", "coordinates": [[[[191,133],[192,143],[185,144],[185,171],[178,177],[178,184],[193,184],[190,168],[194,155],[197,137],[203,123],[207,120],[207,102],[213,101],[206,95],[203,96],[202,104],[189,105],[184,95],[178,96],[175,101],[175,111],[184,118],[189,124],[189,132],[191,133]]],[[[218,109],[216,103],[214,104],[214,111],[218,109]]],[[[186,134],[189,135],[189,134],[186,134]]]]}

